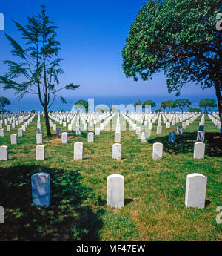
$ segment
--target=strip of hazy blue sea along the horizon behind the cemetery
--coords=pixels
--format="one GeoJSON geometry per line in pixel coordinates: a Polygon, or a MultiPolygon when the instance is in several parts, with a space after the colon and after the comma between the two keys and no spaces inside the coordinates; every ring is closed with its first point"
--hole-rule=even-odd
{"type": "MultiPolygon", "coordinates": [[[[208,96],[206,96],[208,97],[208,96]]],[[[60,99],[55,99],[55,102],[53,102],[53,105],[50,107],[49,110],[52,111],[72,111],[73,105],[75,105],[75,102],[77,102],[79,99],[83,99],[86,101],[91,101],[91,105],[93,103],[94,109],[96,107],[101,108],[103,105],[103,108],[112,108],[112,105],[124,105],[127,107],[127,105],[133,105],[135,102],[138,101],[138,99],[141,100],[141,103],[145,102],[147,99],[151,99],[153,102],[155,102],[156,107],[152,108],[152,111],[155,111],[155,109],[160,108],[161,102],[164,100],[175,100],[175,99],[189,99],[190,102],[192,102],[192,105],[190,107],[192,108],[199,108],[199,102],[201,99],[204,98],[204,96],[146,96],[146,95],[137,95],[137,96],[67,96],[64,98],[67,101],[67,104],[64,104],[61,102],[60,99]],[[105,105],[105,106],[104,106],[105,105]]],[[[214,96],[209,96],[211,99],[216,98],[214,96]]],[[[216,100],[217,101],[217,100],[216,100]]],[[[11,104],[6,106],[5,109],[9,110],[10,112],[20,112],[25,111],[29,112],[32,110],[36,110],[37,112],[43,111],[43,108],[38,100],[38,96],[34,97],[24,97],[20,101],[16,98],[10,99],[11,104]]],[[[115,108],[113,106],[113,108],[115,108]]],[[[203,108],[202,108],[203,109],[203,108]]],[[[212,108],[212,111],[216,111],[218,108],[212,108]]],[[[185,108],[184,111],[187,111],[188,108],[185,108]]],[[[167,109],[165,110],[167,111],[167,109]]],[[[172,111],[180,111],[178,108],[172,108],[172,111]]]]}

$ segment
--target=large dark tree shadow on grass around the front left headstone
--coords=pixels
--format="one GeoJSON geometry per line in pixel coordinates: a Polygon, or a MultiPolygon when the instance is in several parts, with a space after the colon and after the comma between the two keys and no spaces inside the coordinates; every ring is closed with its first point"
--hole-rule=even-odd
{"type": "Polygon", "coordinates": [[[0,240],[98,240],[104,209],[78,171],[43,166],[0,168],[0,205],[4,224],[0,240]],[[51,204],[32,206],[31,175],[50,174],[51,204]],[[85,203],[84,200],[93,203],[85,203]]]}

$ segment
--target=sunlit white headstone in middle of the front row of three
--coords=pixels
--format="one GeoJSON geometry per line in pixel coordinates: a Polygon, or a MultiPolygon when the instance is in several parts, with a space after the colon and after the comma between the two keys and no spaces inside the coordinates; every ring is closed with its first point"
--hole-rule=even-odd
{"type": "Polygon", "coordinates": [[[107,205],[113,208],[124,206],[124,176],[112,174],[107,177],[107,205]]]}

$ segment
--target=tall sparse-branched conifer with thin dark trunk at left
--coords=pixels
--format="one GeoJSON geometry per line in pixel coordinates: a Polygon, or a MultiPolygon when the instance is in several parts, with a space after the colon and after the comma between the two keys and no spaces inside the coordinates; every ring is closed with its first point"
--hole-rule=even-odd
{"type": "MultiPolygon", "coordinates": [[[[22,99],[27,93],[35,94],[44,108],[44,119],[47,135],[51,135],[48,109],[53,105],[55,96],[62,89],[75,90],[79,85],[65,85],[59,87],[58,76],[64,71],[60,67],[61,58],[58,58],[60,43],[56,40],[56,29],[53,22],[46,16],[46,7],[41,6],[41,12],[28,18],[26,26],[14,21],[17,30],[24,39],[24,46],[19,45],[12,37],[6,34],[13,47],[13,55],[19,57],[21,62],[4,61],[8,72],[0,76],[3,89],[13,89],[22,99]],[[16,80],[17,78],[18,81],[16,80]],[[20,82],[22,81],[22,82],[20,82]]],[[[61,96],[61,102],[66,100],[61,96]]]]}

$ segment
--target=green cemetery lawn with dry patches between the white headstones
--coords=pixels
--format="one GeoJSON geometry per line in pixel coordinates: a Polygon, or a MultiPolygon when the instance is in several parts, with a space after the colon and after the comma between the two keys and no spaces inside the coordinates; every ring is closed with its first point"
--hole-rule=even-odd
{"type": "MultiPolygon", "coordinates": [[[[201,117],[177,135],[175,145],[167,142],[169,131],[156,135],[157,123],[148,143],[134,131],[121,132],[122,160],[112,160],[114,131],[101,131],[94,143],[87,143],[87,132],[76,137],[68,131],[69,143],[61,137],[47,137],[41,116],[46,160],[36,160],[37,116],[10,145],[10,134],[0,137],[9,149],[8,161],[0,162],[0,205],[4,225],[0,240],[222,240],[222,224],[216,223],[217,206],[222,205],[222,147],[214,140],[215,125],[206,116],[206,154],[194,160],[193,147],[201,117]],[[74,142],[84,143],[84,159],[73,160],[74,142]],[[152,160],[152,144],[162,142],[161,160],[152,160]],[[50,174],[51,205],[32,206],[31,175],[50,174]],[[184,206],[186,175],[198,172],[207,177],[205,209],[184,206]],[[125,206],[107,206],[107,176],[124,175],[125,206]]],[[[62,131],[67,128],[61,127],[62,131]]],[[[111,127],[111,125],[110,125],[111,127]]]]}

